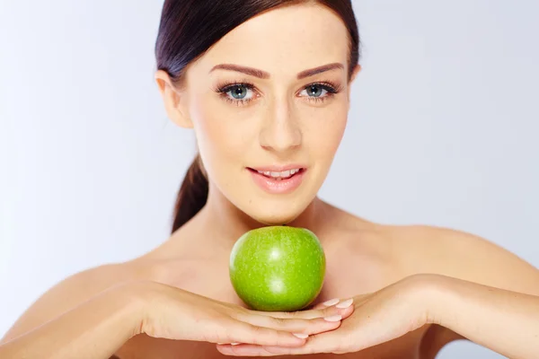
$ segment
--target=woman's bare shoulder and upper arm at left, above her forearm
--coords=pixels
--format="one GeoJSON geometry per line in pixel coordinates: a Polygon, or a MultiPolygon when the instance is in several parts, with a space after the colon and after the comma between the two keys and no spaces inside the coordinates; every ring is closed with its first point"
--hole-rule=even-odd
{"type": "Polygon", "coordinates": [[[1,341],[18,337],[112,286],[136,279],[138,274],[134,261],[93,267],[68,276],[33,302],[1,341]]]}

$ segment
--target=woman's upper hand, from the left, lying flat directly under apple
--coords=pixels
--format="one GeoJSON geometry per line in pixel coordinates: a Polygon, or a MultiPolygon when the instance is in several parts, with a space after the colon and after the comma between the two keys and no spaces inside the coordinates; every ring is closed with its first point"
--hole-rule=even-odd
{"type": "Polygon", "coordinates": [[[216,344],[300,347],[308,336],[333,330],[353,308],[264,312],[218,302],[181,289],[145,283],[143,320],[136,334],[216,344]]]}

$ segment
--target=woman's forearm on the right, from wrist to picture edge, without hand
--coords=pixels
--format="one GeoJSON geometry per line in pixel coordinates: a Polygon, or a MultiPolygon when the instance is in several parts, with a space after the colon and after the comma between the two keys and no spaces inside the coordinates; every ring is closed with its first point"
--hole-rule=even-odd
{"type": "Polygon", "coordinates": [[[511,358],[539,355],[539,297],[427,276],[428,320],[511,358]]]}

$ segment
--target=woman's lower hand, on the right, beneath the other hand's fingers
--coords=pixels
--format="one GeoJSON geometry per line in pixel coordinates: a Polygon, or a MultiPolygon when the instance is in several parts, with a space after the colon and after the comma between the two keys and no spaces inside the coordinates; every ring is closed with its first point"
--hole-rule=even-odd
{"type": "MultiPolygon", "coordinates": [[[[358,352],[422,327],[430,320],[428,276],[411,276],[384,289],[340,301],[355,308],[337,330],[314,335],[305,346],[217,346],[224,355],[270,356],[358,352]]],[[[339,305],[339,304],[337,304],[339,305]]],[[[314,310],[320,310],[317,306],[314,310]]]]}

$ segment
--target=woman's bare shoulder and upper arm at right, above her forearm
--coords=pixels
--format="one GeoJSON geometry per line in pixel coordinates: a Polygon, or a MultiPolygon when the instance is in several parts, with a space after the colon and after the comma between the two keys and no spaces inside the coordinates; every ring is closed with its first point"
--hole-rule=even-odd
{"type": "Polygon", "coordinates": [[[404,272],[436,273],[520,293],[539,294],[539,270],[473,233],[415,225],[386,226],[404,272]]]}

